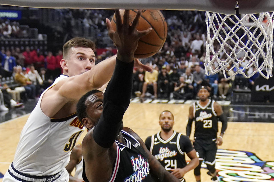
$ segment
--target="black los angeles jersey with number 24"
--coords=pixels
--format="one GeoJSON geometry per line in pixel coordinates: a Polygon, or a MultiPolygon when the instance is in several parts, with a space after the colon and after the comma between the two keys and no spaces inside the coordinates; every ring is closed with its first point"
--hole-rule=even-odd
{"type": "MultiPolygon", "coordinates": [[[[189,138],[176,131],[167,140],[163,140],[158,132],[146,138],[145,144],[152,155],[169,172],[172,172],[170,169],[184,168],[186,166],[184,152],[188,153],[194,149],[189,138]]],[[[183,181],[183,178],[180,180],[183,181]]]]}

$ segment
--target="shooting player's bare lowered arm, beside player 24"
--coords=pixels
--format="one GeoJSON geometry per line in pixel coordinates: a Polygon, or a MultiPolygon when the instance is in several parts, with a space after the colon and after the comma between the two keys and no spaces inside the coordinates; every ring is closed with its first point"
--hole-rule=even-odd
{"type": "Polygon", "coordinates": [[[146,152],[148,164],[149,164],[149,170],[151,172],[151,175],[154,177],[154,179],[158,182],[180,182],[179,179],[177,179],[174,175],[172,175],[170,172],[168,172],[161,163],[148,151],[146,148],[146,144],[143,142],[143,140],[131,129],[127,128],[127,132],[130,133],[134,138],[138,140],[138,142],[141,144],[142,148],[144,148],[144,151],[146,152]]]}

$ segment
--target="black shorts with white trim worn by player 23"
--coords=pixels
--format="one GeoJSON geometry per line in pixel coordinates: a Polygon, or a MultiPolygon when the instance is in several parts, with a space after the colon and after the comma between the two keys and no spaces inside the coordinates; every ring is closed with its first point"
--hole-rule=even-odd
{"type": "Polygon", "coordinates": [[[195,139],[193,142],[196,152],[199,154],[199,160],[205,160],[205,164],[214,165],[216,160],[217,144],[214,139],[195,139]]]}

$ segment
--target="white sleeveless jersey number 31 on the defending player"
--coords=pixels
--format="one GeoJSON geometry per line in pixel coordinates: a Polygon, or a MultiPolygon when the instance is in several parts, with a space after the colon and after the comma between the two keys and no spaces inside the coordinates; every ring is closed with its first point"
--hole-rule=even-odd
{"type": "MultiPolygon", "coordinates": [[[[52,86],[64,78],[67,76],[59,76],[52,86]]],[[[65,168],[71,150],[84,130],[76,113],[53,119],[42,112],[41,99],[47,90],[41,94],[21,132],[13,160],[14,168],[28,175],[53,175],[65,168]]]]}

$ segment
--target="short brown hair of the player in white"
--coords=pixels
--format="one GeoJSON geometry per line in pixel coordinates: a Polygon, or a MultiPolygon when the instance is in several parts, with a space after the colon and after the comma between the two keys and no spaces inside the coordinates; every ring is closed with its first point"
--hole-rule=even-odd
{"type": "Polygon", "coordinates": [[[67,57],[68,51],[71,47],[86,47],[95,51],[95,43],[93,41],[82,37],[75,37],[70,39],[63,46],[63,58],[67,57]]]}

